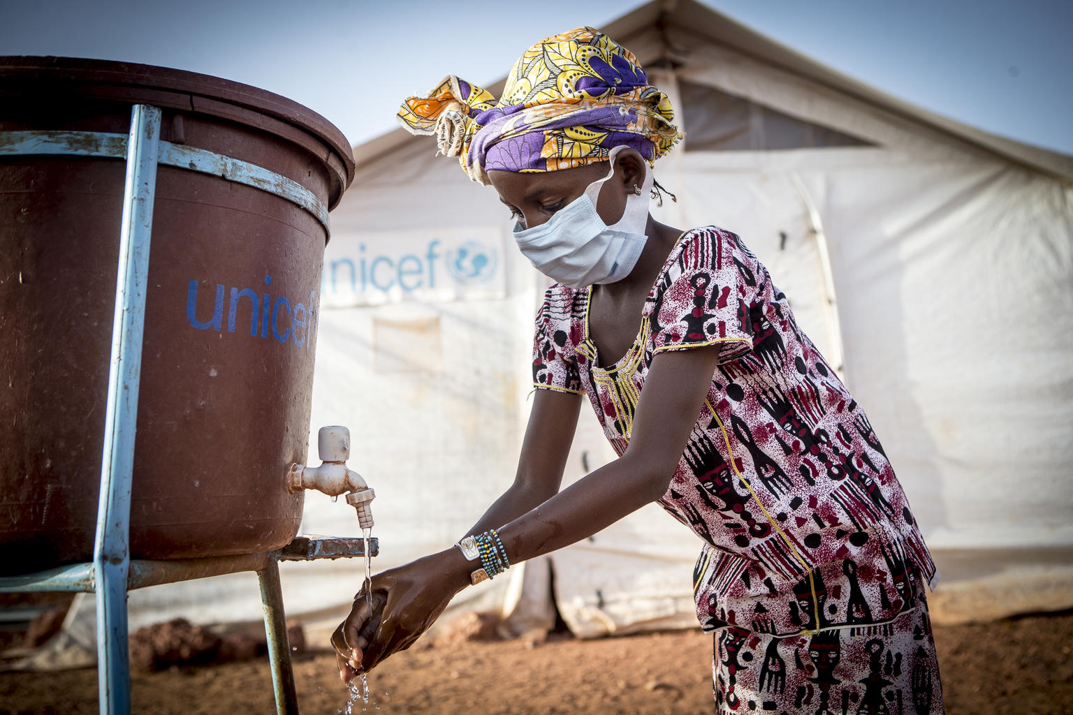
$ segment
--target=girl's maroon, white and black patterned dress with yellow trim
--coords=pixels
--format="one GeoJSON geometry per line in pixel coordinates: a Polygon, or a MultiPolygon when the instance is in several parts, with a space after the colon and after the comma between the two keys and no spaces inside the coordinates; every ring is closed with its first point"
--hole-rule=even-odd
{"type": "Polygon", "coordinates": [[[588,396],[619,455],[655,356],[720,351],[659,500],[704,542],[693,580],[717,711],[942,713],[923,585],[935,565],[868,418],[767,269],[730,232],[686,232],[611,366],[589,339],[590,298],[548,288],[533,382],[588,396]]]}

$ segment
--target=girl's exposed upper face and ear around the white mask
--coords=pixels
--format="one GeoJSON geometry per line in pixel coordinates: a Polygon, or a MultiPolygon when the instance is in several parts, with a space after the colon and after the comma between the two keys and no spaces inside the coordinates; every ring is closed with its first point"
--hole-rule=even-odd
{"type": "MultiPolygon", "coordinates": [[[[622,218],[626,197],[633,193],[634,183],[640,185],[637,177],[643,176],[642,161],[640,154],[622,153],[616,158],[615,175],[604,182],[597,199],[597,213],[608,226],[622,218]]],[[[499,200],[506,205],[521,227],[533,228],[578,198],[590,183],[607,176],[607,162],[604,161],[533,174],[493,170],[488,172],[488,179],[499,192],[499,200]]]]}

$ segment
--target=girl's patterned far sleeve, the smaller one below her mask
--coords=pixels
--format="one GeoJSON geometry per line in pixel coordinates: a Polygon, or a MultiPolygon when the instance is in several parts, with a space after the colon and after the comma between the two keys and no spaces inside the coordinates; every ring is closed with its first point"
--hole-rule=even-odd
{"type": "Polygon", "coordinates": [[[553,285],[544,294],[533,336],[533,386],[585,394],[574,353],[578,336],[573,294],[562,285],[553,285]]]}

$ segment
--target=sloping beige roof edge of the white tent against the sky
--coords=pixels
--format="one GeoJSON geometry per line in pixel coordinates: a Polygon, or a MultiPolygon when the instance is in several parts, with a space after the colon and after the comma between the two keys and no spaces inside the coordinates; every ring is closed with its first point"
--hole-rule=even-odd
{"type": "MultiPolygon", "coordinates": [[[[631,38],[652,30],[661,33],[663,55],[638,58],[646,65],[658,60],[668,60],[677,65],[688,63],[688,57],[675,51],[670,35],[674,33],[700,38],[720,47],[737,50],[755,61],[807,77],[892,114],[938,129],[1009,161],[1064,181],[1073,181],[1073,157],[1069,154],[998,136],[899,100],[785,47],[696,0],[652,0],[601,29],[627,47],[631,46],[631,38]]],[[[505,78],[500,79],[487,89],[493,94],[499,94],[504,81],[505,78]]],[[[410,138],[412,135],[406,130],[393,130],[355,147],[354,158],[361,166],[396,149],[410,138]]]]}

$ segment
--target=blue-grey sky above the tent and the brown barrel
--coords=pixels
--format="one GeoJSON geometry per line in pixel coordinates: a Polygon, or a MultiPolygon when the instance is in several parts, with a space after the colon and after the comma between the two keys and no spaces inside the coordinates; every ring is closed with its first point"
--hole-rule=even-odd
{"type": "MultiPolygon", "coordinates": [[[[973,126],[1073,154],[1073,0],[704,0],[839,72],[973,126]]],[[[354,145],[445,74],[477,85],[622,0],[0,0],[0,55],[143,62],[299,102],[354,145]],[[536,12],[534,8],[539,8],[536,12]]]]}

